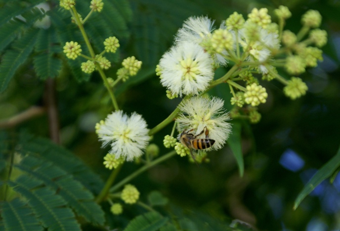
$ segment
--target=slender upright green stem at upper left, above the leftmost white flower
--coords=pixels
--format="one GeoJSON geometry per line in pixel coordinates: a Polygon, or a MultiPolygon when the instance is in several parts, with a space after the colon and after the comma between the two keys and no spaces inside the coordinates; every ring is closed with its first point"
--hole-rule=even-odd
{"type": "MultiPolygon", "coordinates": [[[[84,40],[85,40],[86,46],[87,46],[87,48],[88,48],[88,51],[90,52],[91,57],[94,59],[94,58],[95,58],[95,53],[94,53],[93,48],[92,48],[92,46],[91,46],[91,43],[90,43],[90,41],[89,41],[89,39],[88,39],[88,37],[87,37],[87,34],[85,33],[84,25],[83,25],[82,22],[80,21],[80,18],[79,18],[79,16],[78,16],[78,13],[77,13],[77,10],[76,10],[76,7],[72,7],[72,11],[73,11],[73,14],[74,14],[74,18],[75,18],[75,20],[76,20],[76,23],[77,23],[77,25],[78,25],[78,27],[79,27],[79,29],[80,29],[82,35],[83,35],[83,38],[84,38],[84,40]]],[[[102,78],[103,81],[104,81],[104,85],[105,85],[107,91],[108,91],[109,94],[110,94],[110,97],[111,97],[111,100],[112,100],[112,103],[113,103],[113,106],[114,106],[115,110],[119,110],[119,106],[118,106],[116,97],[115,97],[115,95],[113,94],[113,91],[112,91],[112,89],[111,89],[111,87],[110,87],[110,85],[109,85],[109,83],[108,83],[108,81],[107,81],[107,77],[106,77],[106,75],[105,75],[103,69],[100,67],[100,65],[99,65],[97,62],[95,62],[95,66],[97,67],[97,70],[98,70],[98,72],[99,72],[101,78],[102,78]]]]}

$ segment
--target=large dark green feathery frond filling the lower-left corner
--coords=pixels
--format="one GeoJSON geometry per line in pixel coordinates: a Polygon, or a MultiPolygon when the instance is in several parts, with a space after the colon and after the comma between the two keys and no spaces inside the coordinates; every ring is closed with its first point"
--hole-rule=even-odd
{"type": "Polygon", "coordinates": [[[5,182],[17,193],[12,197],[21,199],[2,204],[2,218],[7,230],[19,224],[19,230],[34,230],[37,224],[42,224],[51,231],[77,231],[80,224],[76,215],[92,224],[103,225],[104,212],[90,192],[102,187],[98,176],[75,156],[47,139],[21,133],[18,144],[19,149],[10,150],[7,145],[1,150],[1,153],[21,155],[18,164],[8,166],[13,167],[18,176],[5,182]],[[13,213],[17,224],[13,222],[13,213]],[[25,222],[27,219],[31,222],[25,222]]]}

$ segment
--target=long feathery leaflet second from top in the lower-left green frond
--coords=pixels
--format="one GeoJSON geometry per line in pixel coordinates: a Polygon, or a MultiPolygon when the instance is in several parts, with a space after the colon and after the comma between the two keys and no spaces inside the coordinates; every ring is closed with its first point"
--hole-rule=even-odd
{"type": "Polygon", "coordinates": [[[16,166],[58,192],[57,194],[86,221],[92,224],[102,225],[104,223],[104,213],[100,206],[94,202],[93,195],[66,171],[49,161],[38,159],[32,155],[26,156],[16,166]]]}

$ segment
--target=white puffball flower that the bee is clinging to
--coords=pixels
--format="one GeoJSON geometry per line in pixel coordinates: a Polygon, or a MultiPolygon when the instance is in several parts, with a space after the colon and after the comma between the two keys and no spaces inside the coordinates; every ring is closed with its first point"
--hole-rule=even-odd
{"type": "MultiPolygon", "coordinates": [[[[231,132],[229,113],[223,108],[224,100],[217,97],[192,97],[179,104],[181,113],[176,118],[178,131],[194,129],[194,135],[198,135],[206,128],[209,130],[209,138],[215,140],[210,150],[218,150],[223,147],[231,132]]],[[[206,138],[205,132],[197,138],[206,138]]],[[[209,149],[208,149],[209,150],[209,149]]]]}

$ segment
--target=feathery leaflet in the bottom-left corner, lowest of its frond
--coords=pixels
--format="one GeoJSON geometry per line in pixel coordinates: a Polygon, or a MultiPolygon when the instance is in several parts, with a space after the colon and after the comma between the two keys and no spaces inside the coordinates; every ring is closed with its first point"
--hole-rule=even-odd
{"type": "Polygon", "coordinates": [[[4,228],[10,231],[42,231],[42,225],[35,218],[32,209],[19,198],[2,203],[4,228]]]}

